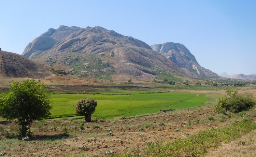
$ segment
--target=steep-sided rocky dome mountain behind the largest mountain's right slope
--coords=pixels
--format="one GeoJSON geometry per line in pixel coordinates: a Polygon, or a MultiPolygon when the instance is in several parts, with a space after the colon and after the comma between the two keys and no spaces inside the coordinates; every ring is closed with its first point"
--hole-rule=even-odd
{"type": "Polygon", "coordinates": [[[189,52],[186,46],[180,43],[167,42],[163,44],[151,45],[151,48],[173,61],[182,69],[188,69],[191,72],[202,76],[217,76],[211,70],[201,67],[195,56],[189,52]]]}

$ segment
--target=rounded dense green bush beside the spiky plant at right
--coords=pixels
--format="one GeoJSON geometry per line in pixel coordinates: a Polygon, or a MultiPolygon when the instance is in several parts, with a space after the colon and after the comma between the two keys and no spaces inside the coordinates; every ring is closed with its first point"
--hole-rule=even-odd
{"type": "Polygon", "coordinates": [[[244,110],[248,110],[255,105],[255,102],[250,98],[233,96],[227,99],[226,110],[233,113],[238,113],[244,110]]]}

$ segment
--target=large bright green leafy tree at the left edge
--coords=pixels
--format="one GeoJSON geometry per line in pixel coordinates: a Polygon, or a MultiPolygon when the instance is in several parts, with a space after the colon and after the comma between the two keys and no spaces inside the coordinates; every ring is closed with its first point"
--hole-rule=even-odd
{"type": "Polygon", "coordinates": [[[0,96],[0,116],[7,120],[17,119],[22,126],[22,136],[26,137],[26,132],[35,120],[42,120],[51,115],[53,108],[47,94],[44,83],[33,80],[23,80],[10,85],[10,92],[0,96]]]}

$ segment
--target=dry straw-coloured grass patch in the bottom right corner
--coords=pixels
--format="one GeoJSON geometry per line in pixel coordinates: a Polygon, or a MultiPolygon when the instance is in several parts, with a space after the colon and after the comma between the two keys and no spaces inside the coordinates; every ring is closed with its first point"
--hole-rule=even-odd
{"type": "Polygon", "coordinates": [[[217,148],[216,151],[210,152],[205,157],[255,157],[256,156],[256,131],[252,131],[243,135],[236,141],[217,148]],[[236,143],[245,142],[245,145],[238,145],[236,143]]]}

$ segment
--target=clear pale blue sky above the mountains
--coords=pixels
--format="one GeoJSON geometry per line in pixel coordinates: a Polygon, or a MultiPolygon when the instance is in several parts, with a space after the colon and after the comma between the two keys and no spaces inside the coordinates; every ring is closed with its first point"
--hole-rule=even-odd
{"type": "Polygon", "coordinates": [[[148,45],[184,44],[217,73],[256,73],[256,0],[0,0],[0,47],[22,54],[60,25],[101,26],[148,45]]]}

